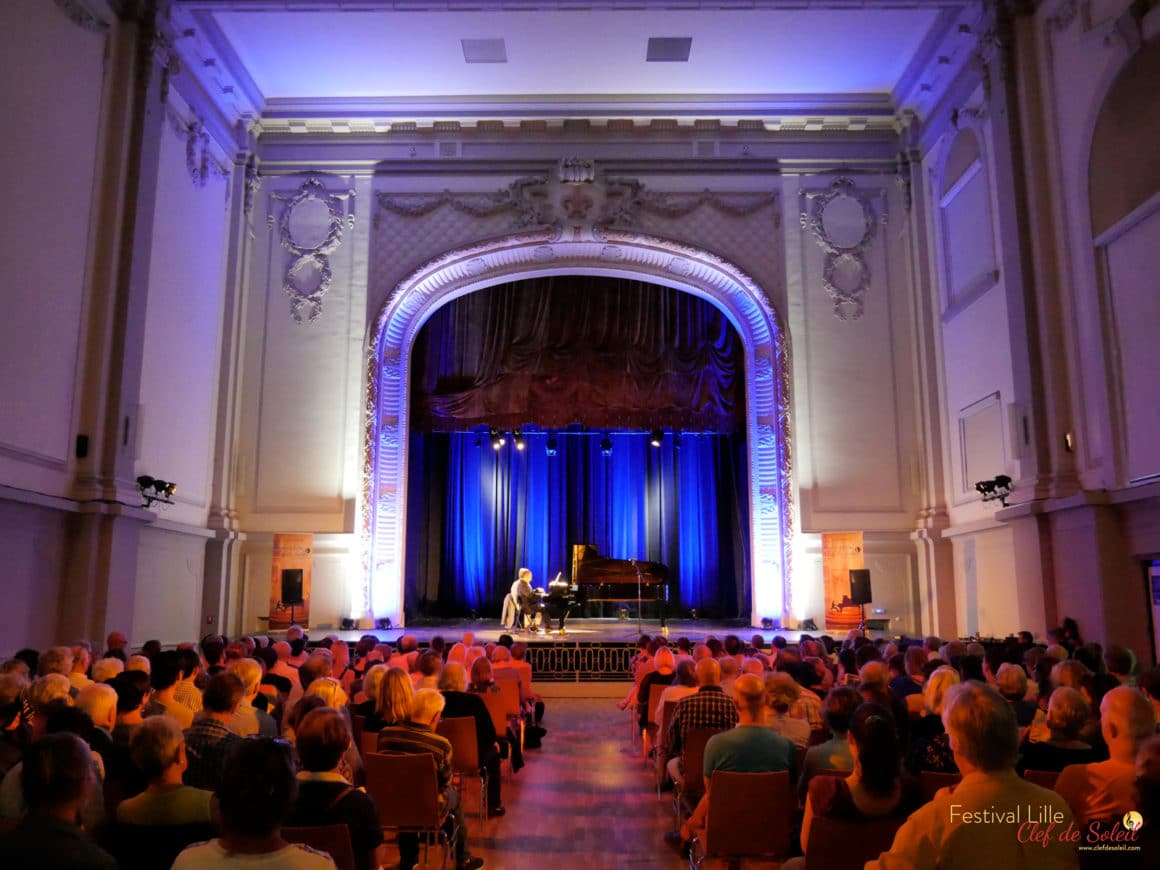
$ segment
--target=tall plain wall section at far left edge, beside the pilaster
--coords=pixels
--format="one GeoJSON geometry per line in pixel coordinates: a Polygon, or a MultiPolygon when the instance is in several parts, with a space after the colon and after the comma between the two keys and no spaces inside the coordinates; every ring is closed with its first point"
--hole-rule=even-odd
{"type": "Polygon", "coordinates": [[[9,84],[0,483],[55,494],[67,492],[73,456],[104,42],[56,3],[0,5],[0,80],[9,84]]]}

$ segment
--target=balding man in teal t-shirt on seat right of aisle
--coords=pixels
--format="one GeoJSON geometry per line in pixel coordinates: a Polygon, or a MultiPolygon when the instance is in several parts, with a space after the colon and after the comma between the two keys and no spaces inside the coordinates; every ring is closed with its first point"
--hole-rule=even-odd
{"type": "MultiPolygon", "coordinates": [[[[705,744],[705,793],[689,819],[681,825],[682,849],[702,828],[709,815],[715,770],[766,774],[793,770],[793,744],[766,726],[766,686],[754,674],[742,674],[733,683],[737,727],[713,734],[705,744]]],[[[676,838],[667,838],[673,842],[676,838]]]]}

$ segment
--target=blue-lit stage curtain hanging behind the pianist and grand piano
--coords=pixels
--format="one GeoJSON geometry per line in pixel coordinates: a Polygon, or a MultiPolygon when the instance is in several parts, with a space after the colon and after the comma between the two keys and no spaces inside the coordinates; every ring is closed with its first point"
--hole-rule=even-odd
{"type": "Polygon", "coordinates": [[[414,435],[407,512],[406,612],[499,614],[516,571],[537,586],[571,575],[573,544],[601,556],[669,567],[673,617],[696,608],[747,616],[748,513],[745,441],[738,435],[529,432],[527,448],[493,450],[476,433],[414,435]]]}

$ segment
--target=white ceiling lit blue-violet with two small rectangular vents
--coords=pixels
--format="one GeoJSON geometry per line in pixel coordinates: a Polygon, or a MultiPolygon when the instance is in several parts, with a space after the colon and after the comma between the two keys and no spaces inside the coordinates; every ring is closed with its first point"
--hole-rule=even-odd
{"type": "Polygon", "coordinates": [[[973,50],[976,7],[174,0],[173,23],[186,68],[239,116],[760,118],[921,109],[973,50]],[[657,37],[688,60],[647,60],[657,37]]]}

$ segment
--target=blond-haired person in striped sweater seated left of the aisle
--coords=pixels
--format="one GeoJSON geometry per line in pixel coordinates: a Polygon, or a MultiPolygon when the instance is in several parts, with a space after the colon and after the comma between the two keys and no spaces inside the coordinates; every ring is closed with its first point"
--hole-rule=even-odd
{"type": "MultiPolygon", "coordinates": [[[[473,857],[467,850],[467,829],[463,821],[459,796],[451,788],[451,744],[435,733],[435,726],[443,713],[445,702],[434,689],[420,689],[411,708],[407,720],[399,725],[387,725],[378,732],[378,751],[413,755],[427,753],[435,759],[438,788],[444,805],[450,811],[449,833],[457,831],[452,850],[458,870],[476,870],[484,865],[483,858],[473,857]]],[[[419,861],[419,840],[414,834],[399,835],[400,870],[412,870],[419,861]]]]}

